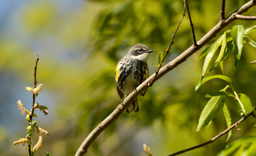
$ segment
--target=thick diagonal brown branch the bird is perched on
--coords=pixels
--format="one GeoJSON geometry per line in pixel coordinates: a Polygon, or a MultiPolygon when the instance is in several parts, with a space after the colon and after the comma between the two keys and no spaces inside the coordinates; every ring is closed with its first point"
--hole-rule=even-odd
{"type": "MultiPolygon", "coordinates": [[[[255,0],[251,0],[248,3],[245,3],[244,5],[240,6],[240,8],[238,8],[238,10],[236,10],[233,14],[235,14],[236,12],[238,14],[242,14],[242,13],[246,12],[249,8],[251,8],[251,7],[255,6],[255,5],[256,5],[255,0]]],[[[99,125],[97,125],[95,127],[95,129],[87,136],[87,138],[85,138],[85,140],[83,141],[83,143],[79,147],[78,151],[76,152],[76,156],[84,155],[87,152],[87,149],[89,148],[91,143],[95,140],[95,138],[98,135],[100,135],[100,133],[102,131],[104,131],[104,129],[106,129],[106,127],[108,125],[110,125],[112,122],[117,120],[117,118],[122,114],[122,112],[126,109],[126,107],[135,98],[137,98],[137,96],[139,96],[139,94],[141,94],[144,90],[149,88],[149,86],[147,85],[147,82],[150,82],[150,81],[152,81],[152,79],[154,79],[154,81],[152,81],[152,84],[153,84],[155,81],[160,79],[166,73],[168,73],[171,70],[173,70],[179,64],[181,64],[186,59],[188,59],[188,57],[190,57],[193,53],[195,53],[196,51],[201,49],[201,47],[203,47],[212,38],[214,38],[214,36],[216,36],[216,34],[218,32],[220,32],[222,29],[224,29],[227,25],[229,25],[233,21],[235,21],[235,17],[234,16],[229,16],[229,18],[227,18],[225,21],[223,21],[223,23],[218,23],[217,25],[215,25],[209,32],[207,32],[207,34],[205,34],[205,36],[203,36],[203,38],[201,38],[201,40],[199,40],[197,42],[197,44],[198,44],[197,47],[195,47],[194,45],[191,45],[188,49],[186,49],[186,51],[181,53],[177,58],[175,58],[171,62],[168,62],[167,64],[165,64],[165,66],[162,67],[159,70],[158,75],[156,76],[155,79],[154,79],[154,77],[155,77],[156,73],[153,73],[146,81],[141,83],[141,85],[139,85],[134,92],[130,93],[124,99],[124,101],[123,101],[124,107],[119,105],[109,116],[107,116],[107,118],[105,120],[103,120],[99,125]]]]}

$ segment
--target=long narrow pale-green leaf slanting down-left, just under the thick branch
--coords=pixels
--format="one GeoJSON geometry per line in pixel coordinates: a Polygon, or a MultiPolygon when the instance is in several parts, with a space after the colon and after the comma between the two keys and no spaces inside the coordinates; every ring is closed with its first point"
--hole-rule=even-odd
{"type": "Polygon", "coordinates": [[[218,38],[218,40],[216,40],[216,42],[214,42],[214,44],[212,44],[210,46],[210,49],[208,50],[208,54],[205,57],[205,62],[203,64],[203,72],[202,72],[202,77],[205,76],[205,73],[208,72],[209,70],[209,66],[210,66],[210,62],[212,60],[212,58],[214,57],[214,54],[216,53],[218,47],[221,45],[221,41],[223,40],[223,36],[224,34],[222,34],[220,36],[220,38],[218,38]]]}

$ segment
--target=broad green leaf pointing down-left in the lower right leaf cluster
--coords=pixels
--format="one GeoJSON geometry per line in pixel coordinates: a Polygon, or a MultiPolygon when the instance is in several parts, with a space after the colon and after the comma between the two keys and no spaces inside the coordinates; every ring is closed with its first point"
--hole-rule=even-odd
{"type": "Polygon", "coordinates": [[[225,96],[214,96],[210,98],[205,108],[201,112],[199,123],[197,125],[197,131],[200,131],[205,125],[213,120],[218,114],[219,110],[223,106],[225,96]]]}

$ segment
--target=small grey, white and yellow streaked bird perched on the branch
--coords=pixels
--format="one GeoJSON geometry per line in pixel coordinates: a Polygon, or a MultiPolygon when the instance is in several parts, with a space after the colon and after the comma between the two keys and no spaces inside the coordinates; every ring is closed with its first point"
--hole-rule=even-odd
{"type": "MultiPolygon", "coordinates": [[[[149,60],[149,53],[153,51],[149,50],[146,45],[136,44],[117,62],[115,82],[117,93],[121,99],[124,98],[124,94],[128,96],[149,77],[147,61],[149,60]]],[[[137,98],[126,109],[126,112],[132,111],[139,111],[137,98]]]]}

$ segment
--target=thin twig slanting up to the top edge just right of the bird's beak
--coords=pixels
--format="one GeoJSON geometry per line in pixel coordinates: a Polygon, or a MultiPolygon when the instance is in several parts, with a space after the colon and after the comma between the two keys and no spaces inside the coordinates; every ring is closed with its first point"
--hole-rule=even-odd
{"type": "MultiPolygon", "coordinates": [[[[158,72],[159,72],[160,68],[162,68],[162,65],[163,65],[163,62],[165,60],[165,57],[168,55],[168,53],[169,53],[169,51],[171,49],[171,45],[173,45],[173,40],[174,40],[174,38],[176,36],[176,33],[178,31],[178,28],[180,27],[181,22],[182,22],[182,20],[183,20],[183,18],[185,16],[185,13],[186,13],[186,3],[185,3],[185,0],[184,0],[184,7],[183,7],[183,12],[182,12],[182,18],[180,18],[180,21],[178,22],[178,25],[177,25],[177,27],[175,29],[175,32],[173,33],[173,36],[171,37],[171,41],[169,43],[169,47],[165,50],[165,55],[164,55],[163,59],[161,60],[161,63],[159,64],[158,70],[156,70],[156,72],[155,72],[156,75],[154,75],[154,79],[156,79],[156,76],[158,75],[158,72]]],[[[152,81],[150,81],[150,83],[147,83],[147,85],[148,86],[152,86],[152,82],[154,81],[154,79],[152,79],[152,81]]]]}

